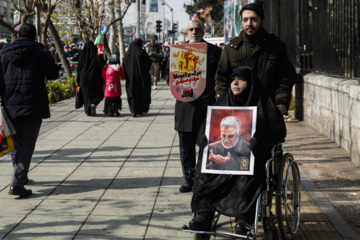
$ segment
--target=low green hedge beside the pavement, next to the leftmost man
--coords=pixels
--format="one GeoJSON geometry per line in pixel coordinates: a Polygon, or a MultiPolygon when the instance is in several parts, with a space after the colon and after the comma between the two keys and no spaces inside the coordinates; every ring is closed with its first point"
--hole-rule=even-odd
{"type": "Polygon", "coordinates": [[[57,79],[54,82],[48,83],[49,102],[52,104],[75,96],[75,85],[75,76],[66,80],[57,79]]]}

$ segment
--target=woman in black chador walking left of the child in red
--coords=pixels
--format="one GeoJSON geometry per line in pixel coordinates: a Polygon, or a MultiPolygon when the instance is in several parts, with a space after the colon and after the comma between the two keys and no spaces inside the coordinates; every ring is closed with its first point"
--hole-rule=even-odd
{"type": "Polygon", "coordinates": [[[104,98],[101,73],[105,64],[102,56],[97,55],[94,43],[87,41],[78,62],[77,84],[81,87],[84,110],[88,116],[96,115],[96,106],[104,98]]]}

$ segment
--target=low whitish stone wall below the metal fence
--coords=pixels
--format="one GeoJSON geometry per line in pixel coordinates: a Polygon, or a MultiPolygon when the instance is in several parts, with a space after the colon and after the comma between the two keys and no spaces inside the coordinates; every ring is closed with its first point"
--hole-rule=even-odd
{"type": "Polygon", "coordinates": [[[348,151],[360,167],[359,81],[314,73],[300,81],[294,93],[295,101],[303,103],[303,120],[348,151]]]}

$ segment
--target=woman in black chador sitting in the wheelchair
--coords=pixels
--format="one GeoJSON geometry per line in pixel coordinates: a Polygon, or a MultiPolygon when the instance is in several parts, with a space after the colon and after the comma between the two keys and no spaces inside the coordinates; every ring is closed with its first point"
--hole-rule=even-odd
{"type": "Polygon", "coordinates": [[[266,180],[265,163],[272,147],[286,136],[284,118],[267,96],[251,68],[238,67],[229,78],[229,88],[215,103],[217,106],[256,106],[257,122],[250,150],[255,157],[254,175],[220,175],[201,173],[205,124],[198,135],[199,163],[194,175],[191,208],[198,213],[190,223],[193,230],[209,231],[214,211],[236,217],[235,232],[246,235],[254,222],[256,199],[266,180]]]}

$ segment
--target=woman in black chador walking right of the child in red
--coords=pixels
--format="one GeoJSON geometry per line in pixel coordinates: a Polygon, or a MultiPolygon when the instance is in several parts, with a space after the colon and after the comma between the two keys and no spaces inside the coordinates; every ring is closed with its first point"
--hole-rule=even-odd
{"type": "Polygon", "coordinates": [[[126,93],[133,117],[149,111],[151,103],[151,59],[142,48],[142,40],[135,39],[124,58],[126,93]]]}

